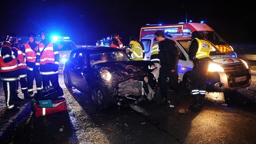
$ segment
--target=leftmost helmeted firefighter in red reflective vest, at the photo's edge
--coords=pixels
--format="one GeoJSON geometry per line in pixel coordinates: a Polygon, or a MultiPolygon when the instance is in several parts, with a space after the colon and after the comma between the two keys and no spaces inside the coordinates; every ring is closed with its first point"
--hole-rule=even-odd
{"type": "Polygon", "coordinates": [[[19,80],[18,73],[18,53],[12,51],[11,45],[14,44],[17,37],[15,34],[8,34],[7,39],[2,43],[0,49],[0,75],[1,81],[3,81],[5,102],[7,105],[7,110],[20,110],[15,107],[15,97],[17,81],[19,80]]]}

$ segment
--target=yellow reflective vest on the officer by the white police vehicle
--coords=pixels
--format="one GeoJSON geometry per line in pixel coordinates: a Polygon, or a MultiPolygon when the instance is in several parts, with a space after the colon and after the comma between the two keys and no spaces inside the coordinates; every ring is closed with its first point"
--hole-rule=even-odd
{"type": "Polygon", "coordinates": [[[197,49],[196,58],[201,59],[204,57],[210,57],[210,50],[212,49],[212,44],[210,44],[206,40],[199,40],[197,38],[195,39],[197,40],[199,46],[197,49]]]}

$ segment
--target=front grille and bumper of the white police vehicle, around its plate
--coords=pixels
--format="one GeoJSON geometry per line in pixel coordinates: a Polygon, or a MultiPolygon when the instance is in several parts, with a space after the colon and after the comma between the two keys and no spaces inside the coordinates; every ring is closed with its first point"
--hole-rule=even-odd
{"type": "Polygon", "coordinates": [[[228,76],[229,87],[239,87],[248,83],[251,79],[248,69],[245,67],[244,63],[238,63],[235,65],[225,65],[223,66],[226,75],[228,76]],[[240,76],[247,76],[246,81],[235,82],[234,79],[240,76]]]}

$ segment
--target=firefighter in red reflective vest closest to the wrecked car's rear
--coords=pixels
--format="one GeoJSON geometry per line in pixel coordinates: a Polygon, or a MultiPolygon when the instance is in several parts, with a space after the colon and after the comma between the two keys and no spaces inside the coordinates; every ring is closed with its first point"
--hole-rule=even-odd
{"type": "Polygon", "coordinates": [[[63,90],[59,85],[59,51],[57,46],[50,41],[46,33],[41,32],[41,41],[39,43],[40,52],[40,74],[43,81],[43,87],[52,86],[57,88],[59,96],[63,95],[63,90]]]}

